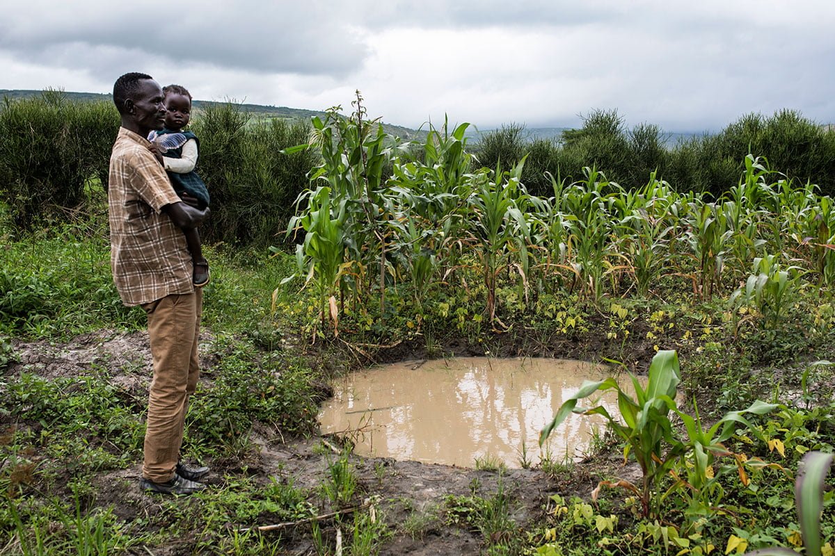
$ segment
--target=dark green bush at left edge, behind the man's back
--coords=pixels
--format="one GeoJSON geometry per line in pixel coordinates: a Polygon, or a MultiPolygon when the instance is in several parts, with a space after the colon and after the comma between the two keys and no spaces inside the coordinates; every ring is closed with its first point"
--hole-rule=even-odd
{"type": "Polygon", "coordinates": [[[103,198],[119,114],[110,103],[71,102],[58,91],[3,100],[0,201],[17,228],[64,220],[91,197],[103,198]],[[98,178],[99,183],[95,183],[98,178]]]}

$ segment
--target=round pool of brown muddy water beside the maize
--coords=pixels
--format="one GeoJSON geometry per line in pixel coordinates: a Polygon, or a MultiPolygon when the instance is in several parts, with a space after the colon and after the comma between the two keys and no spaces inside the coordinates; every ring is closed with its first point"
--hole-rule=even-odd
{"type": "MultiPolygon", "coordinates": [[[[539,430],[584,380],[605,378],[590,363],[544,358],[453,358],[403,362],[353,373],[321,409],[322,433],[342,433],[356,453],[473,467],[476,459],[509,468],[544,454],[561,461],[588,448],[599,416],[570,415],[540,452],[539,430]]],[[[624,384],[629,383],[624,378],[624,384]]],[[[631,385],[627,388],[631,393],[631,385]]],[[[616,397],[600,399],[617,414],[616,397]]]]}

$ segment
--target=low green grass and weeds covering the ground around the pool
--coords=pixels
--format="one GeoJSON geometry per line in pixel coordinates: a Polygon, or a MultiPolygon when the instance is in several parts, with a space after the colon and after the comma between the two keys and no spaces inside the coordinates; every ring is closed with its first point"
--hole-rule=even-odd
{"type": "MultiPolygon", "coordinates": [[[[122,307],[111,285],[107,237],[99,226],[100,221],[7,233],[8,247],[0,258],[5,280],[0,289],[0,367],[18,357],[20,340],[63,341],[103,329],[144,328],[141,311],[122,307]]],[[[322,553],[334,553],[336,527],[346,552],[357,554],[377,553],[390,535],[426,538],[429,530],[449,527],[475,535],[483,553],[493,554],[540,548],[540,553],[553,549],[554,554],[677,553],[681,546],[675,542],[683,541],[669,541],[675,535],[688,539],[691,553],[708,543],[724,551],[731,535],[744,538],[749,548],[786,545],[794,523],[790,473],[802,453],[831,451],[835,445],[832,366],[813,364],[827,358],[835,322],[825,288],[793,290],[791,306],[770,313],[767,325],[760,316],[770,306],[751,304],[741,311],[728,298],[683,292],[680,277],[669,275],[659,278],[647,297],[625,292],[594,299],[556,288],[526,303],[512,268],[498,271],[491,290],[480,279],[483,269],[467,253],[458,253],[455,273],[466,288],[429,285],[418,313],[412,291],[400,281],[402,275],[393,273],[383,313],[362,307],[350,295],[337,299],[344,312],[335,338],[322,328],[317,293],[301,288],[299,281],[282,284],[296,268],[290,256],[222,245],[209,246],[207,253],[213,280],[205,290],[208,334],[201,349],[208,364],[188,415],[185,455],[220,465],[226,473],[195,498],[159,501],[156,509],[139,506],[131,510],[136,517],[125,518],[125,508],[109,508],[107,493],[94,482],[102,475],[122,476],[138,465],[144,433],[141,388],[112,380],[113,362],[108,361],[89,365],[73,378],[48,378],[38,368],[3,373],[0,491],[8,503],[0,504],[0,551],[8,547],[11,553],[23,553],[25,545],[29,553],[84,553],[92,545],[92,553],[155,552],[176,538],[176,549],[192,553],[282,553],[296,535],[317,538],[322,553]],[[501,333],[491,331],[480,308],[490,291],[507,327],[501,333]],[[256,451],[253,433],[276,439],[315,434],[317,402],[324,395],[319,384],[379,357],[382,350],[374,346],[419,350],[426,343],[443,353],[462,345],[491,354],[576,349],[572,353],[578,357],[617,359],[634,370],[645,368],[654,346],[676,348],[686,395],[681,407],[695,399],[702,418],[747,407],[756,398],[785,407],[751,419],[765,442],[753,434],[728,440],[726,448],[754,463],[744,468],[746,484],[740,483],[736,468],[716,473],[721,499],[710,513],[696,514],[695,505],[666,498],[670,524],[665,527],[673,529],[661,531],[660,525],[635,517],[629,496],[604,490],[590,516],[589,500],[574,503],[566,497],[564,513],[552,508],[521,530],[510,518],[514,497],[509,489],[484,492],[477,482],[469,495],[446,498],[437,513],[412,512],[397,529],[387,526],[384,512],[372,519],[362,510],[281,535],[241,532],[244,526],[297,521],[322,508],[351,506],[389,482],[382,468],[376,481],[363,482],[347,454],[330,452],[314,462],[320,478],[313,488],[297,487],[296,479],[282,471],[274,480],[264,480],[247,469],[256,451]],[[757,468],[753,458],[780,468],[757,468]],[[609,530],[613,514],[618,522],[609,530]],[[685,528],[685,523],[691,525],[685,528]]],[[[739,277],[743,282],[747,272],[739,277]]],[[[729,283],[726,278],[726,288],[729,283]]],[[[128,363],[119,372],[139,376],[143,369],[128,363]]],[[[617,445],[600,449],[622,455],[617,445]]],[[[531,455],[521,452],[519,458],[529,461],[531,455]]],[[[732,465],[717,463],[726,464],[732,465]]],[[[504,473],[488,457],[477,467],[504,473]]],[[[549,458],[536,469],[544,481],[566,488],[574,477],[598,473],[583,463],[549,458]]],[[[114,488],[135,487],[126,478],[114,481],[114,488]]],[[[835,538],[835,524],[831,501],[824,504],[826,543],[835,538]]]]}

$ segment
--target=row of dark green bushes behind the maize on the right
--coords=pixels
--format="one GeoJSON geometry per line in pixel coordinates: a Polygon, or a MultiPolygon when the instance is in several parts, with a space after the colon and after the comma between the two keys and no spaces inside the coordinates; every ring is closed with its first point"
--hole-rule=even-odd
{"type": "Polygon", "coordinates": [[[512,166],[528,154],[529,168],[522,181],[540,197],[550,191],[546,172],[570,183],[584,177],[583,168],[592,167],[627,189],[640,188],[655,172],[677,191],[719,198],[736,183],[747,153],[767,158],[772,168],[792,180],[817,183],[823,193],[835,193],[835,132],[794,110],[780,110],[770,117],[747,114],[719,133],[676,142],[651,123],[627,129],[616,110],[586,114],[583,126],[564,131],[561,141],[529,140],[525,135],[519,124],[504,125],[483,133],[473,150],[488,168],[497,163],[512,166]]]}

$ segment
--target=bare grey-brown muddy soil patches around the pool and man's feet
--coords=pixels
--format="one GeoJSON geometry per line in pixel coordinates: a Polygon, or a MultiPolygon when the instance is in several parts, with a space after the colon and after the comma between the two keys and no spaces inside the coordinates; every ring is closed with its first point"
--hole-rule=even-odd
{"type": "MultiPolygon", "coordinates": [[[[208,345],[210,334],[204,332],[201,344],[208,345]]],[[[577,344],[579,345],[579,344],[577,344]]],[[[578,354],[571,346],[542,348],[524,351],[529,355],[578,354]]],[[[507,348],[502,355],[515,355],[514,349],[507,348]]],[[[415,348],[401,346],[382,355],[382,359],[420,357],[415,348]]],[[[447,353],[479,354],[466,346],[452,346],[447,353]]],[[[7,369],[7,375],[26,371],[46,378],[74,377],[90,373],[91,369],[104,369],[113,383],[124,388],[136,398],[146,398],[150,383],[151,363],[146,333],[100,333],[85,334],[68,343],[15,343],[14,353],[19,359],[7,369]]],[[[208,349],[202,349],[203,366],[211,368],[215,362],[208,349]]],[[[99,371],[100,372],[100,371],[99,371]]],[[[207,375],[208,376],[208,375],[207,375]]],[[[209,379],[209,378],[202,378],[209,379]]],[[[265,426],[256,426],[251,433],[255,448],[237,459],[204,462],[212,467],[208,483],[220,488],[226,475],[242,472],[265,485],[271,477],[281,481],[291,480],[298,488],[316,488],[322,483],[326,471],[327,448],[321,438],[281,438],[265,426]],[[324,451],[324,453],[323,453],[324,451]]],[[[326,443],[334,444],[333,438],[326,443]]],[[[498,473],[470,468],[449,467],[438,464],[423,464],[408,461],[394,461],[389,458],[359,458],[352,456],[357,469],[362,494],[360,499],[369,499],[375,504],[377,515],[382,516],[392,538],[382,547],[382,554],[477,554],[483,548],[483,538],[476,531],[469,531],[457,525],[445,523],[443,518],[426,519],[420,531],[407,531],[402,527],[408,518],[415,516],[438,516],[449,494],[478,494],[488,498],[496,493],[499,480],[512,499],[511,516],[520,531],[530,530],[532,523],[541,522],[547,511],[549,496],[559,493],[563,496],[579,495],[589,498],[602,475],[617,473],[620,477],[633,479],[635,468],[618,468],[610,458],[587,461],[577,466],[570,477],[548,476],[539,469],[511,469],[499,477],[498,473]]],[[[638,472],[640,474],[640,471],[638,472]]],[[[138,516],[154,515],[162,511],[159,498],[139,492],[137,482],[140,465],[104,473],[97,479],[94,503],[112,507],[119,518],[127,522],[138,516]],[[114,488],[114,485],[117,485],[114,488]]],[[[183,499],[182,503],[191,503],[183,499]]],[[[332,508],[320,508],[327,513],[332,508]]],[[[253,525],[246,523],[245,525],[253,525]]],[[[268,525],[271,523],[257,523],[268,525]]],[[[237,528],[244,524],[228,523],[227,527],[237,528]]],[[[327,521],[322,522],[326,534],[333,534],[327,521]]],[[[270,533],[267,533],[270,534],[270,533]]],[[[315,553],[306,525],[285,528],[282,531],[286,553],[315,553]]],[[[154,548],[154,554],[192,553],[195,538],[172,539],[164,549],[154,548]]],[[[140,549],[144,550],[144,549],[140,549]]],[[[140,553],[147,553],[140,551],[140,553]]]]}

